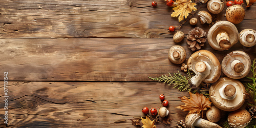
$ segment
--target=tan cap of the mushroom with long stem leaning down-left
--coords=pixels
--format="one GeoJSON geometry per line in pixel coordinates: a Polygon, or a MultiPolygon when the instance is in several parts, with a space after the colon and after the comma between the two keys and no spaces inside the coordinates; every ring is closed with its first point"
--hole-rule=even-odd
{"type": "Polygon", "coordinates": [[[188,58],[188,60],[187,60],[188,69],[197,74],[198,71],[196,71],[195,65],[197,62],[200,62],[200,61],[206,61],[211,67],[210,74],[208,75],[208,77],[206,77],[203,80],[203,82],[205,82],[205,83],[216,82],[221,76],[221,65],[220,65],[218,58],[210,51],[199,50],[199,51],[193,53],[188,58]]]}

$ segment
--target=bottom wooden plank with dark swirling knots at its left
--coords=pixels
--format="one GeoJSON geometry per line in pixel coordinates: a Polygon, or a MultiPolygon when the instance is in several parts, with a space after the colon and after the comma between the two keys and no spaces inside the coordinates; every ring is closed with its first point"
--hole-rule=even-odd
{"type": "MultiPolygon", "coordinates": [[[[8,125],[13,127],[135,127],[128,119],[143,117],[144,106],[159,108],[162,93],[169,100],[171,127],[187,114],[175,106],[182,104],[178,97],[188,93],[164,83],[14,81],[9,82],[8,91],[8,125]]],[[[0,105],[4,104],[1,100],[0,105]]],[[[3,119],[3,107],[0,113],[3,119]]],[[[3,120],[0,126],[5,126],[3,120]]]]}

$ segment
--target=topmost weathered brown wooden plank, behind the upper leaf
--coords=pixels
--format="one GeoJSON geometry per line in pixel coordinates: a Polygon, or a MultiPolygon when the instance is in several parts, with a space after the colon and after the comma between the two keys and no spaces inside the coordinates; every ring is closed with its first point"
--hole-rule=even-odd
{"type": "MultiPolygon", "coordinates": [[[[168,27],[181,23],[170,16],[172,7],[166,6],[164,1],[157,3],[157,8],[153,8],[151,1],[145,0],[1,0],[0,38],[173,37],[174,32],[170,33],[168,27]]],[[[246,8],[245,20],[236,25],[239,31],[256,30],[255,8],[255,4],[246,8]]],[[[222,16],[225,9],[217,16],[219,20],[226,20],[222,16]]],[[[207,10],[206,5],[200,10],[207,10]]],[[[200,23],[197,26],[206,31],[210,28],[200,23]]],[[[181,31],[188,33],[192,28],[185,23],[181,31]]]]}

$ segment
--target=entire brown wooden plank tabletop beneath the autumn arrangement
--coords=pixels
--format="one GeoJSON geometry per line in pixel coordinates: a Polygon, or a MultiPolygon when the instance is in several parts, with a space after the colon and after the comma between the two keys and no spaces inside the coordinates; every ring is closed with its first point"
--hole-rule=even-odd
{"type": "MultiPolygon", "coordinates": [[[[144,106],[159,107],[160,94],[170,102],[169,117],[174,120],[168,126],[184,120],[187,112],[175,106],[182,104],[178,97],[188,93],[148,78],[180,70],[167,57],[169,48],[177,45],[172,38],[177,29],[169,32],[168,27],[184,20],[171,17],[173,10],[164,0],[156,2],[153,8],[147,0],[1,0],[0,126],[6,126],[4,72],[11,127],[136,127],[129,119],[144,116],[144,106]]],[[[207,10],[206,5],[200,10],[207,10]]],[[[212,15],[214,19],[226,20],[224,10],[212,15]]],[[[256,30],[256,4],[245,11],[238,31],[256,30]]],[[[210,28],[196,26],[206,32],[210,28]]],[[[186,22],[180,31],[186,37],[194,27],[186,22]]],[[[193,51],[186,38],[178,45],[188,59],[193,51]]],[[[256,58],[255,47],[239,42],[226,51],[216,51],[207,42],[202,49],[220,61],[234,50],[256,58]]]]}

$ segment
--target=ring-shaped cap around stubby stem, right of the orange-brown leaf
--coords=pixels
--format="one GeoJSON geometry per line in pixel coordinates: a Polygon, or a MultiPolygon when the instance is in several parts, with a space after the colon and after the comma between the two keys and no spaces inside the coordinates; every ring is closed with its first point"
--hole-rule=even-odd
{"type": "Polygon", "coordinates": [[[228,77],[222,77],[217,82],[212,84],[212,86],[209,89],[209,96],[211,102],[217,108],[230,112],[238,110],[244,104],[246,90],[239,80],[231,79],[228,77]],[[220,96],[219,90],[227,84],[232,84],[234,88],[236,88],[237,95],[233,100],[223,99],[220,96]]]}

